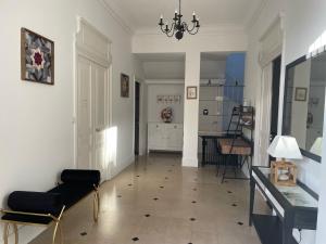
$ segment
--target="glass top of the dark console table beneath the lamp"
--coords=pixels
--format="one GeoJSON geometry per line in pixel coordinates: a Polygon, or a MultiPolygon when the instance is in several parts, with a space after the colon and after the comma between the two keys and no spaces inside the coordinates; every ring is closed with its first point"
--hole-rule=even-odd
{"type": "Polygon", "coordinates": [[[260,167],[260,171],[269,180],[276,189],[289,201],[292,206],[297,207],[318,207],[318,202],[310,195],[304,189],[299,185],[296,187],[281,187],[275,184],[271,175],[271,169],[260,167]]]}

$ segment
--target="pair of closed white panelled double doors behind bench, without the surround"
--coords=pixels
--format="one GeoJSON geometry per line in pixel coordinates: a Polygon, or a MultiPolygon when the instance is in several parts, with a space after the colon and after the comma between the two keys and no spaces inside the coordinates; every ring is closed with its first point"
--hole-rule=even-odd
{"type": "Polygon", "coordinates": [[[82,55],[78,55],[77,65],[77,167],[98,169],[102,179],[106,179],[109,69],[82,55]]]}

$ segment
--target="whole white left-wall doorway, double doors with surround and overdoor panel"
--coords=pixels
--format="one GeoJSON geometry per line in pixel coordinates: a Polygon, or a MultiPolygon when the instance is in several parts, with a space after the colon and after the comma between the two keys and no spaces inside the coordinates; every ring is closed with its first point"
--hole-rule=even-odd
{"type": "Polygon", "coordinates": [[[110,40],[84,18],[76,34],[75,165],[109,178],[106,133],[110,125],[110,40]],[[86,38],[87,37],[87,38],[86,38]],[[85,40],[92,40],[85,43],[85,40]],[[98,43],[103,43],[98,49],[98,43]],[[85,51],[87,50],[87,51],[85,51]],[[101,59],[99,57],[101,51],[101,59]],[[102,59],[103,57],[103,59],[102,59]]]}

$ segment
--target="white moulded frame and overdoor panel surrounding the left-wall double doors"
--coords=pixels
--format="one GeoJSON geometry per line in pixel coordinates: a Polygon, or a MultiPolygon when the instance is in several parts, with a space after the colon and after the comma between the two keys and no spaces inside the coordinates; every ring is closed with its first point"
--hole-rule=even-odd
{"type": "MultiPolygon", "coordinates": [[[[106,113],[106,127],[112,125],[112,56],[111,56],[111,40],[99,31],[96,27],[89,24],[85,18],[77,17],[77,31],[75,34],[74,41],[74,86],[73,86],[73,125],[74,125],[74,168],[78,167],[77,155],[78,155],[78,56],[83,56],[93,63],[105,68],[108,76],[108,113],[106,113]],[[86,38],[87,37],[87,38],[86,38]],[[91,42],[93,40],[93,42],[91,42]],[[101,46],[99,46],[101,43],[101,46]],[[101,47],[101,49],[99,49],[101,47]]],[[[92,149],[95,150],[95,149],[92,149]]],[[[93,154],[95,155],[95,154],[93,154]]],[[[109,167],[102,181],[111,178],[111,168],[109,167]]]]}

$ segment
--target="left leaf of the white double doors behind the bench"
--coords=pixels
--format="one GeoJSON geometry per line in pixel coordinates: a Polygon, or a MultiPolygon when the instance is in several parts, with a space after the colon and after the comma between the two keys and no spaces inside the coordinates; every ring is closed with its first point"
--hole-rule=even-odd
{"type": "Polygon", "coordinates": [[[92,162],[91,62],[77,59],[77,167],[89,169],[92,162]]]}

